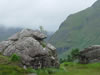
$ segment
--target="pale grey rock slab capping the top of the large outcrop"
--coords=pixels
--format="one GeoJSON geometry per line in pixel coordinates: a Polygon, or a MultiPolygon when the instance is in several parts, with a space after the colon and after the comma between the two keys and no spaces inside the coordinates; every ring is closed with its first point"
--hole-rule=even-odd
{"type": "Polygon", "coordinates": [[[47,36],[41,33],[38,30],[31,30],[31,29],[23,29],[21,32],[16,33],[15,35],[11,36],[9,40],[16,41],[18,39],[22,39],[24,37],[33,37],[37,40],[43,40],[47,38],[47,36]]]}

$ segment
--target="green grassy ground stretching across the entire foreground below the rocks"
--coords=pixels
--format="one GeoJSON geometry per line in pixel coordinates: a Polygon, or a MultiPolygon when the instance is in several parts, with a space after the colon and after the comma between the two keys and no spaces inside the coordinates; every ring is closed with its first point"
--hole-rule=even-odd
{"type": "Polygon", "coordinates": [[[77,64],[65,62],[60,65],[59,69],[46,68],[27,70],[18,66],[19,62],[12,62],[11,58],[0,55],[0,75],[28,75],[36,73],[37,75],[100,75],[100,63],[94,64],[77,64]]]}

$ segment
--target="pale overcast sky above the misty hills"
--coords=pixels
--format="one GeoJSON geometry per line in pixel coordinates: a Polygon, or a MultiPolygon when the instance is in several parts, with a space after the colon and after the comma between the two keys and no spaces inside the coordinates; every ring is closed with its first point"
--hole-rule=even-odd
{"type": "Polygon", "coordinates": [[[58,29],[68,15],[96,0],[0,0],[0,24],[12,27],[58,29]]]}

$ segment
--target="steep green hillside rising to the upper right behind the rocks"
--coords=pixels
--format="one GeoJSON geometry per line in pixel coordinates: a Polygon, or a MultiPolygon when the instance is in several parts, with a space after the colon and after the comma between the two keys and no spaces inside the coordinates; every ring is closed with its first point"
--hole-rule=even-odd
{"type": "Polygon", "coordinates": [[[50,42],[57,47],[59,54],[72,48],[82,50],[100,44],[100,0],[86,10],[70,15],[50,42]]]}

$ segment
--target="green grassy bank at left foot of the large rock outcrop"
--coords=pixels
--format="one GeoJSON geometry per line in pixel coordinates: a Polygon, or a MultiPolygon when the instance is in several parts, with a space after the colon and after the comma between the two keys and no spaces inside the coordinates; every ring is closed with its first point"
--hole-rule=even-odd
{"type": "Polygon", "coordinates": [[[0,75],[27,75],[30,73],[18,65],[20,65],[20,62],[12,62],[11,57],[0,54],[0,75]]]}

